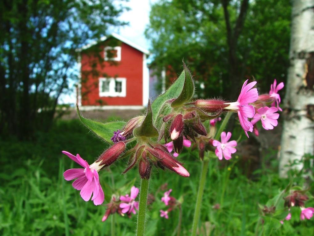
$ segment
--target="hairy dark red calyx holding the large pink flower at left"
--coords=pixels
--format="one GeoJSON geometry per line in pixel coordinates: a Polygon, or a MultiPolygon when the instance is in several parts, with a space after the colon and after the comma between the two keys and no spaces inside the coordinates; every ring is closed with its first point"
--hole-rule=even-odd
{"type": "Polygon", "coordinates": [[[109,149],[101,154],[98,160],[96,160],[95,162],[97,163],[101,161],[98,165],[103,165],[102,167],[111,165],[122,154],[122,152],[125,150],[125,147],[126,145],[124,142],[118,142],[116,144],[113,144],[109,149]]]}

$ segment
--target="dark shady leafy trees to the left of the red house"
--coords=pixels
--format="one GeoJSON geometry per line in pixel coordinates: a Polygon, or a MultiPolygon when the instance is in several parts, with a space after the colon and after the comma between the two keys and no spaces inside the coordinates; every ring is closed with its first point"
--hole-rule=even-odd
{"type": "Polygon", "coordinates": [[[0,2],[2,134],[27,138],[37,124],[49,126],[58,97],[77,78],[75,49],[126,24],[116,19],[123,10],[111,0],[0,2]]]}

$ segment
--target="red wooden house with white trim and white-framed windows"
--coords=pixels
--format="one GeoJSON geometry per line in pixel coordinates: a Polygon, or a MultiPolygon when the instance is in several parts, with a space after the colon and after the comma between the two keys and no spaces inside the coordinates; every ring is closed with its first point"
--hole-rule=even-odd
{"type": "Polygon", "coordinates": [[[118,34],[78,50],[77,103],[89,109],[142,109],[149,98],[149,51],[118,34]]]}

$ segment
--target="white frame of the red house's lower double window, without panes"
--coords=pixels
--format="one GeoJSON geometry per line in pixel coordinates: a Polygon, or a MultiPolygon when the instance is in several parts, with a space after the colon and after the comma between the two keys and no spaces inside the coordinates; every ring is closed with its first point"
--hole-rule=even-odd
{"type": "Polygon", "coordinates": [[[127,79],[126,78],[99,78],[99,97],[126,97],[127,79]],[[102,92],[103,81],[110,81],[109,92],[102,92]],[[116,81],[122,82],[121,92],[116,92],[116,81]]]}

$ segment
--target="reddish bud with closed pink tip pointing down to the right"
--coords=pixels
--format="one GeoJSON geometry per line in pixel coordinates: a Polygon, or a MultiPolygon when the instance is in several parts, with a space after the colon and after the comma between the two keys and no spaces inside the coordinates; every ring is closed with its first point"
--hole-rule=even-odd
{"type": "Polygon", "coordinates": [[[169,155],[168,152],[165,152],[160,148],[154,148],[154,151],[159,155],[159,162],[163,166],[183,177],[190,176],[189,172],[182,166],[182,164],[174,159],[171,155],[169,155]]]}

